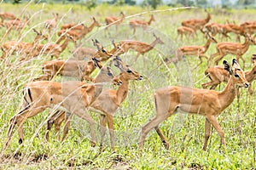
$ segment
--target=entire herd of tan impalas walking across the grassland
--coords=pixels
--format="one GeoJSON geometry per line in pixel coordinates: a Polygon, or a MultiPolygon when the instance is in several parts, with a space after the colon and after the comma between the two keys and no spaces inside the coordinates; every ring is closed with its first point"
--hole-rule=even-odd
{"type": "MultiPolygon", "coordinates": [[[[20,31],[29,24],[27,18],[20,20],[15,14],[8,12],[0,13],[0,17],[2,20],[0,26],[6,27],[3,37],[7,36],[13,29],[17,30],[20,36],[20,31]]],[[[41,54],[51,58],[55,57],[55,60],[44,62],[42,66],[43,75],[41,77],[33,79],[32,82],[28,82],[24,86],[23,108],[10,119],[8,139],[5,147],[9,145],[15,125],[18,128],[19,143],[21,144],[23,142],[22,124],[26,119],[38,115],[38,113],[45,111],[47,108],[51,108],[53,112],[49,114],[47,120],[45,139],[49,140],[49,131],[53,125],[55,125],[57,132],[57,139],[60,139],[61,123],[64,122],[61,139],[63,141],[67,137],[71,118],[75,114],[90,123],[91,144],[95,146],[95,121],[88,114],[88,111],[96,111],[100,114],[101,147],[107,130],[106,124],[108,123],[111,149],[114,150],[113,114],[127,97],[129,82],[143,79],[143,76],[132,69],[131,66],[126,65],[120,56],[129,50],[136,51],[137,56],[134,60],[134,63],[136,63],[139,55],[144,55],[157,44],[161,45],[165,42],[153,33],[155,39],[151,43],[137,40],[112,41],[113,48],[108,50],[98,40],[93,39],[92,42],[96,48],[83,47],[78,41],[83,41],[90,31],[102,25],[96,18],[92,17],[90,26],[85,26],[83,23],[67,23],[61,26],[60,31],[56,31],[59,18],[59,14],[54,14],[53,19],[44,21],[44,28],[47,29],[48,36],[44,35],[42,31],[32,28],[36,33],[36,37],[32,42],[8,41],[1,44],[2,61],[8,59],[12,54],[18,54],[20,61],[32,59],[41,54]],[[58,36],[56,42],[42,43],[53,34],[52,32],[58,36]],[[75,49],[72,52],[73,57],[70,59],[59,59],[60,54],[67,48],[69,42],[74,42],[75,44],[75,49]],[[110,61],[110,66],[114,63],[114,66],[119,69],[119,76],[115,76],[110,67],[103,66],[103,62],[108,60],[110,61]],[[95,78],[90,77],[96,68],[100,69],[98,75],[95,78]],[[79,81],[54,82],[53,80],[57,75],[77,77],[79,81]],[[118,85],[119,88],[103,88],[105,83],[118,85]]],[[[240,93],[237,87],[248,88],[249,93],[253,94],[250,84],[256,78],[256,55],[252,55],[254,66],[251,71],[244,72],[238,62],[239,59],[243,61],[244,69],[246,60],[242,56],[247,52],[250,45],[255,45],[255,36],[252,37],[251,35],[256,33],[256,22],[248,21],[238,26],[229,22],[226,24],[209,23],[211,19],[211,14],[207,13],[206,19],[183,20],[182,26],[177,28],[177,39],[180,38],[183,41],[183,36],[186,36],[187,40],[194,39],[198,36],[196,31],[200,31],[206,38],[206,42],[201,46],[179,47],[175,51],[174,57],[166,60],[175,64],[187,55],[199,57],[200,62],[195,66],[197,68],[203,63],[203,59],[206,59],[208,68],[205,74],[211,81],[201,85],[204,89],[169,86],[155,90],[154,108],[156,114],[153,119],[142,127],[139,141],[141,149],[143,149],[143,143],[147,134],[153,128],[159,134],[166,149],[169,148],[166,137],[160,131],[159,125],[160,122],[163,122],[177,111],[185,111],[206,117],[203,150],[207,150],[211,126],[217,130],[221,138],[221,144],[225,144],[224,131],[219,126],[217,116],[233,102],[236,94],[237,99],[239,99],[240,93]],[[230,38],[228,35],[230,33],[236,34],[237,41],[244,37],[244,42],[217,42],[216,35],[221,36],[221,40],[223,40],[224,38],[230,38]],[[208,58],[206,53],[211,43],[216,44],[217,51],[208,58]],[[236,55],[236,59],[232,60],[232,65],[224,60],[224,67],[219,66],[218,62],[226,54],[236,55]],[[217,56],[218,58],[214,60],[214,66],[211,67],[212,59],[217,56]],[[225,88],[220,92],[213,90],[220,82],[227,82],[225,88]],[[209,86],[211,88],[206,89],[209,86]]],[[[123,12],[120,13],[119,17],[106,17],[105,30],[108,31],[108,27],[115,26],[117,31],[119,25],[124,20],[125,14],[123,12]]],[[[130,20],[129,25],[131,26],[132,33],[135,34],[138,27],[143,30],[147,29],[154,20],[153,14],[151,14],[148,21],[130,20]]],[[[3,41],[3,38],[1,41],[3,41]]]]}

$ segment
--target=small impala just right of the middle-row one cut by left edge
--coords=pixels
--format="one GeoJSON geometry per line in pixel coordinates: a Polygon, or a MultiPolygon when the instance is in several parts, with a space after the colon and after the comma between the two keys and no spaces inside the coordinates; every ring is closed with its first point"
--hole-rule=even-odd
{"type": "Polygon", "coordinates": [[[65,41],[62,44],[49,43],[49,44],[39,44],[37,46],[37,50],[32,54],[32,56],[38,56],[39,54],[47,54],[53,58],[55,56],[56,59],[60,57],[60,54],[67,48],[68,42],[75,42],[76,39],[70,36],[66,36],[65,41]]]}

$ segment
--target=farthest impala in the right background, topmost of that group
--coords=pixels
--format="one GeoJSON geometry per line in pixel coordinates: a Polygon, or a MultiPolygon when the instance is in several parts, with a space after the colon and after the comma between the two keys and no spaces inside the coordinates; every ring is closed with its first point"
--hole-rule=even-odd
{"type": "Polygon", "coordinates": [[[182,26],[187,26],[193,30],[201,30],[211,20],[211,14],[207,13],[206,19],[183,20],[182,26]]]}

